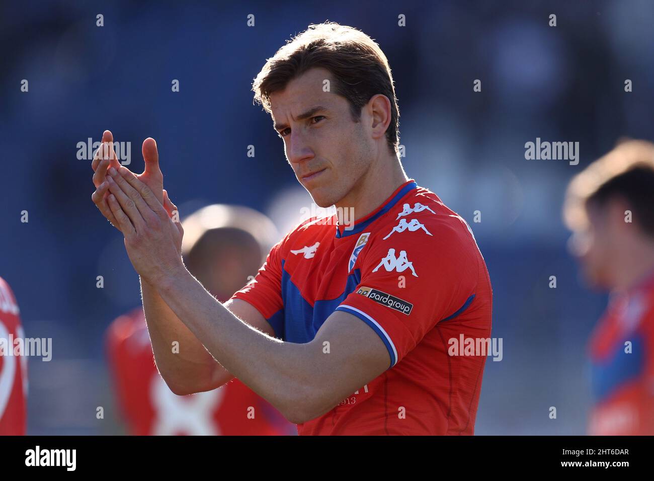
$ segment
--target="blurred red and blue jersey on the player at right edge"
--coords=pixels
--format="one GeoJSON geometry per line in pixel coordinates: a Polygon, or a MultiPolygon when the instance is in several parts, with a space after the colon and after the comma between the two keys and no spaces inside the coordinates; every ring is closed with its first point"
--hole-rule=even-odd
{"type": "Polygon", "coordinates": [[[654,435],[654,276],[611,295],[589,357],[589,434],[654,435]]]}

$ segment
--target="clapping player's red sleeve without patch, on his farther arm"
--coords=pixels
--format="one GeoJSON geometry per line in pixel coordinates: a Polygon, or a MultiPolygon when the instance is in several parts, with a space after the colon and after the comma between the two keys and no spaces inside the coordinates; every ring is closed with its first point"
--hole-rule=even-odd
{"type": "Polygon", "coordinates": [[[275,336],[283,333],[282,300],[282,241],[275,244],[266,257],[254,279],[243,289],[233,294],[231,299],[242,299],[252,304],[275,330],[275,336]]]}

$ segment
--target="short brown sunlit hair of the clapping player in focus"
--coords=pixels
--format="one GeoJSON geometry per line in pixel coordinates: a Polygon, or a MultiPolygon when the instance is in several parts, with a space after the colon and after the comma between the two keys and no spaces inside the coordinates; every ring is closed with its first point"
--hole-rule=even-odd
{"type": "Polygon", "coordinates": [[[386,131],[388,147],[398,152],[400,109],[395,97],[388,60],[368,35],[336,22],[312,24],[287,41],[269,58],[252,83],[254,101],[271,113],[270,95],[313,67],[327,69],[334,76],[334,93],[350,104],[353,121],[370,99],[383,94],[390,100],[390,124],[386,131]]]}

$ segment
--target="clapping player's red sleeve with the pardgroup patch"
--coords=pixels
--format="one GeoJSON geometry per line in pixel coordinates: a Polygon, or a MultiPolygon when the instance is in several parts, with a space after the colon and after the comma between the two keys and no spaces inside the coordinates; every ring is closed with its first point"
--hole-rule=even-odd
{"type": "Polygon", "coordinates": [[[424,228],[392,232],[386,239],[383,232],[369,241],[361,281],[336,308],[377,332],[390,367],[439,321],[464,312],[477,286],[479,250],[465,221],[421,215],[418,223],[424,228]]]}

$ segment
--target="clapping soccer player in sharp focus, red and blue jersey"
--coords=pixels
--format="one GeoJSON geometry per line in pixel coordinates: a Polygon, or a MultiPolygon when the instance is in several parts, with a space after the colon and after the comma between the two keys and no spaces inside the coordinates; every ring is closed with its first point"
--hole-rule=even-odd
{"type": "Polygon", "coordinates": [[[336,215],[289,232],[225,304],[182,264],[154,140],[141,175],[115,155],[93,162],[92,199],[141,276],[163,378],[187,394],[235,376],[301,435],[473,434],[485,357],[448,347],[489,338],[490,279],[466,222],[404,173],[387,58],[361,31],[313,25],[253,90],[296,178],[336,215]]]}

